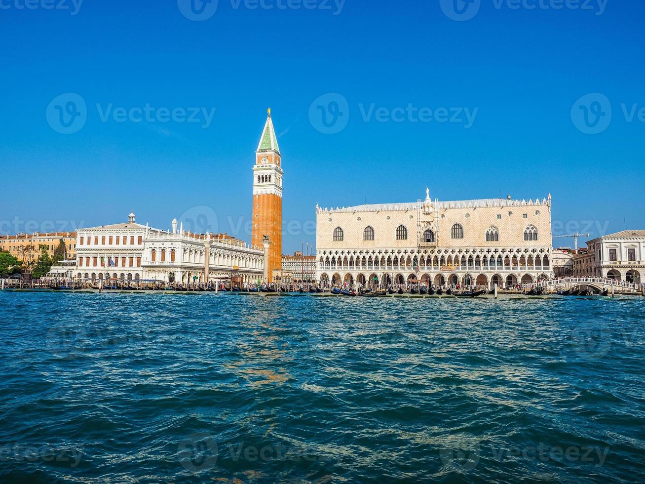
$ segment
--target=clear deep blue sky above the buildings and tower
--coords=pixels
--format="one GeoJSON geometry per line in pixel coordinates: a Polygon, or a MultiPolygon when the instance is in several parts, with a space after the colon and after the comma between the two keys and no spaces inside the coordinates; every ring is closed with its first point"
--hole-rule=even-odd
{"type": "Polygon", "coordinates": [[[554,234],[645,228],[640,1],[28,1],[0,0],[1,232],[134,210],[249,240],[268,106],[285,253],[316,203],[426,187],[550,192],[554,234]]]}

